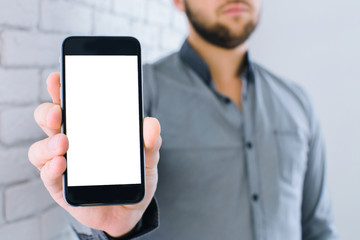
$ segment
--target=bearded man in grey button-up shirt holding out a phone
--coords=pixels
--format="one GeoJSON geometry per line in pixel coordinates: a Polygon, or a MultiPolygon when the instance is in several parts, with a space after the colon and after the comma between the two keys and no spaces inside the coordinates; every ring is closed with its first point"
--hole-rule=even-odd
{"type": "Polygon", "coordinates": [[[159,119],[162,138],[159,122],[146,118],[141,203],[64,202],[68,141],[60,134],[59,75],[48,78],[54,103],[40,105],[35,118],[49,138],[31,146],[29,159],[54,200],[92,228],[80,238],[337,239],[309,98],[247,53],[260,0],[174,3],[190,32],[178,53],[144,67],[145,112],[159,119]]]}

